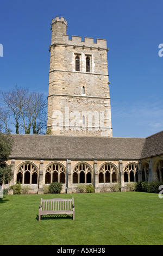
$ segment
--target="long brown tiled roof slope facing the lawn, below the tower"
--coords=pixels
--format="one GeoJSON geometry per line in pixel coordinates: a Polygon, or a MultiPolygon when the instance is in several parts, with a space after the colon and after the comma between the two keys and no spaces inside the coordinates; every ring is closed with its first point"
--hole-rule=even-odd
{"type": "Polygon", "coordinates": [[[11,135],[10,159],[137,160],[145,138],[11,135]]]}

